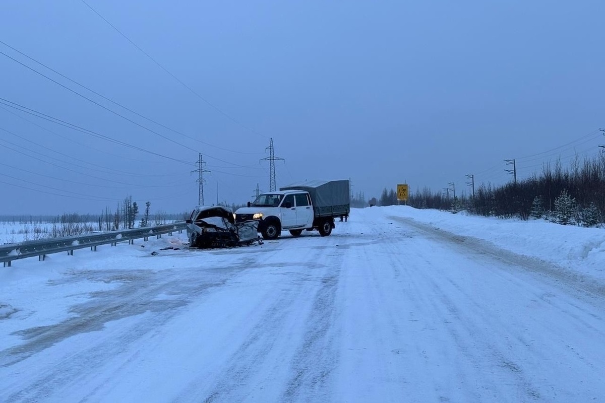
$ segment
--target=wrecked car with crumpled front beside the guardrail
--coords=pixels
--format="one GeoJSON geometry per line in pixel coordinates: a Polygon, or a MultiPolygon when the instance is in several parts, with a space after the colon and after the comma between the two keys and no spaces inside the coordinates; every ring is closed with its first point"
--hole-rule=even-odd
{"type": "Polygon", "coordinates": [[[236,224],[233,211],[220,205],[198,205],[185,222],[189,246],[193,248],[237,247],[260,240],[257,230],[259,220],[236,224]]]}

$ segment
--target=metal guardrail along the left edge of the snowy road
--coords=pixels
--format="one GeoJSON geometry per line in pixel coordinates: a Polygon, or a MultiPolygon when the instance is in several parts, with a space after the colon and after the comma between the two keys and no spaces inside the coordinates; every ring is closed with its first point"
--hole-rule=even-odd
{"type": "Polygon", "coordinates": [[[172,235],[173,232],[181,233],[186,230],[185,222],[175,222],[156,227],[134,228],[133,230],[110,231],[100,234],[86,234],[77,236],[66,236],[61,238],[49,238],[40,240],[28,240],[19,243],[8,243],[0,245],[0,262],[4,267],[10,267],[11,262],[26,257],[38,256],[38,260],[44,260],[47,254],[67,251],[73,255],[74,250],[91,248],[96,251],[99,245],[116,246],[118,242],[134,243],[135,239],[147,240],[150,236],[162,237],[162,234],[172,235]]]}

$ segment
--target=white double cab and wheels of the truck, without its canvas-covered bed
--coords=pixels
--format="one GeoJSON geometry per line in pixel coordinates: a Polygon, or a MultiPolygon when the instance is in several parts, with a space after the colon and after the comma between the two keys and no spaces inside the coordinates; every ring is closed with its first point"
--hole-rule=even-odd
{"type": "Polygon", "coordinates": [[[264,239],[275,239],[283,230],[289,230],[293,236],[299,236],[302,230],[311,231],[314,228],[317,228],[322,236],[332,233],[333,219],[324,219],[319,225],[314,218],[309,192],[301,190],[263,193],[249,203],[248,207],[235,211],[236,222],[260,220],[258,232],[264,239]]]}

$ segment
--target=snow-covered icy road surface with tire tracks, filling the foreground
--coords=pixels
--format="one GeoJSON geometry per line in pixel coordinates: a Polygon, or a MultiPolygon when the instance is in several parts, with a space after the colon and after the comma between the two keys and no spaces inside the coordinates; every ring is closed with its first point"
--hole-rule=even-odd
{"type": "Polygon", "coordinates": [[[407,211],[262,247],[159,250],[183,234],[13,262],[0,401],[605,400],[603,282],[407,211]]]}

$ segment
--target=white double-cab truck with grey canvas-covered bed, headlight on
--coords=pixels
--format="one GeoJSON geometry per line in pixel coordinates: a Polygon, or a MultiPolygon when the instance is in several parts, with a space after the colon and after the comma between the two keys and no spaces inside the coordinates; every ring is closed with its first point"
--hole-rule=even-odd
{"type": "Polygon", "coordinates": [[[260,220],[258,232],[264,239],[276,239],[283,230],[293,236],[303,230],[318,230],[321,236],[328,236],[335,218],[348,218],[349,194],[348,180],[292,184],[279,192],[263,193],[248,207],[238,208],[235,222],[260,220]]]}

